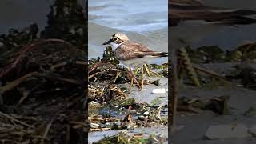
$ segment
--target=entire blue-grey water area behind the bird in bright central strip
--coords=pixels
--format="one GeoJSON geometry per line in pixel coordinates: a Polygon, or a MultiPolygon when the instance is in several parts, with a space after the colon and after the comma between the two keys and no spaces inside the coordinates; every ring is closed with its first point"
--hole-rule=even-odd
{"type": "Polygon", "coordinates": [[[102,43],[118,32],[151,50],[168,51],[167,0],[89,0],[88,14],[89,58],[101,57],[102,43]]]}

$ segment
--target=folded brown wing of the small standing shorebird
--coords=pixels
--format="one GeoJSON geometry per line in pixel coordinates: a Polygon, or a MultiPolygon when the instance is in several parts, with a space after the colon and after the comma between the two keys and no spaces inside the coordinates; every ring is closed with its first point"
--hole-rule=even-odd
{"type": "Polygon", "coordinates": [[[146,46],[143,46],[135,42],[126,42],[119,46],[115,50],[115,57],[118,60],[130,60],[134,58],[143,58],[145,56],[155,56],[155,57],[167,57],[167,53],[155,52],[150,50],[146,46]]]}

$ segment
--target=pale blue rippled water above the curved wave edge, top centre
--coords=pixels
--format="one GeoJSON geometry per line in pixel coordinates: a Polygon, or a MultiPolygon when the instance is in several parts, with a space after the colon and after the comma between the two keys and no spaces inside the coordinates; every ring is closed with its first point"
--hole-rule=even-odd
{"type": "Polygon", "coordinates": [[[167,1],[89,0],[89,19],[102,26],[118,30],[145,32],[167,26],[167,1]]]}

